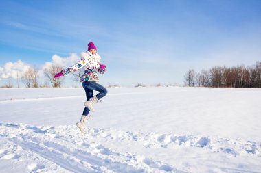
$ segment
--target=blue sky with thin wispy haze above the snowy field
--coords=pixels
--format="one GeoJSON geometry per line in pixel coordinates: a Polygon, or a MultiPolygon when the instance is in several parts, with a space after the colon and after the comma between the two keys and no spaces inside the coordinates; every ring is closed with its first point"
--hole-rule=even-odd
{"type": "Polygon", "coordinates": [[[190,68],[261,61],[261,1],[1,1],[2,68],[41,68],[88,42],[107,66],[104,85],[183,85],[190,68]]]}

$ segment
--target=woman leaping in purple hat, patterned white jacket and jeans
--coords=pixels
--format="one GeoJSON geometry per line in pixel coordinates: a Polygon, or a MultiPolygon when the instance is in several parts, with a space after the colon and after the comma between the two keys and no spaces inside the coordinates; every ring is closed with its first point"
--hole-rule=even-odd
{"type": "Polygon", "coordinates": [[[93,109],[93,104],[101,101],[100,99],[107,94],[106,88],[98,84],[98,72],[100,74],[104,74],[106,66],[100,64],[101,57],[97,54],[97,49],[93,42],[89,42],[88,51],[80,53],[80,57],[81,59],[78,63],[67,68],[66,70],[62,70],[54,77],[56,78],[65,76],[70,72],[75,72],[76,70],[79,70],[80,68],[86,68],[80,81],[82,82],[82,87],[85,90],[87,101],[84,102],[85,108],[82,113],[82,117],[80,118],[80,122],[76,123],[80,131],[82,131],[82,133],[86,133],[84,127],[86,125],[87,119],[89,118],[89,111],[95,111],[95,109],[93,109]],[[93,96],[93,90],[98,91],[99,93],[93,96]]]}

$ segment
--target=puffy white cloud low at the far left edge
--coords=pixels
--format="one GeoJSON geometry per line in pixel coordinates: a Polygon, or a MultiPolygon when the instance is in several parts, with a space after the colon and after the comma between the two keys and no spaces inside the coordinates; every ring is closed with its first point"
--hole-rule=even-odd
{"type": "Polygon", "coordinates": [[[30,68],[29,64],[25,64],[21,60],[17,62],[7,62],[4,66],[0,67],[0,79],[3,78],[21,78],[23,72],[30,68]]]}

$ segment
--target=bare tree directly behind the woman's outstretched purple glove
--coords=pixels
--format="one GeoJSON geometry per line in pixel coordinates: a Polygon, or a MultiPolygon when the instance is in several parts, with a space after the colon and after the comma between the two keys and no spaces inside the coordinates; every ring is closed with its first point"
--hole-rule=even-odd
{"type": "Polygon", "coordinates": [[[63,70],[63,67],[58,64],[52,64],[49,66],[49,68],[45,68],[45,77],[47,77],[47,79],[50,81],[52,87],[60,87],[60,85],[63,83],[62,77],[54,78],[54,75],[56,75],[61,70],[63,70]]]}

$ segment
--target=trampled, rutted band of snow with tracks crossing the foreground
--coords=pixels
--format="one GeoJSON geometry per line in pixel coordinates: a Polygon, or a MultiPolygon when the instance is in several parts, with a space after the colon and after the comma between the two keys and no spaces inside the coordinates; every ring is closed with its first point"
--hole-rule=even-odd
{"type": "Polygon", "coordinates": [[[203,148],[206,152],[222,152],[228,157],[261,156],[260,142],[211,137],[95,128],[87,128],[87,135],[82,135],[75,126],[32,127],[23,124],[1,124],[0,131],[3,132],[0,160],[11,159],[14,165],[28,162],[27,169],[35,172],[183,172],[168,163],[137,154],[136,149],[131,152],[133,146],[139,146],[139,150],[203,148]],[[111,144],[115,146],[111,147],[111,144]],[[118,144],[125,144],[124,148],[118,144]],[[119,148],[124,152],[117,151],[119,148]]]}

